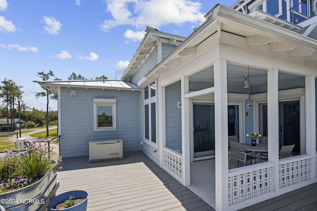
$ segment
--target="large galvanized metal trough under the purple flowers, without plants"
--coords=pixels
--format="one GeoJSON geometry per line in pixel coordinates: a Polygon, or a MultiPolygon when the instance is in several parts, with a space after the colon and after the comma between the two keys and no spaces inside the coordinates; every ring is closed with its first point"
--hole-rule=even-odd
{"type": "Polygon", "coordinates": [[[1,205],[5,208],[5,211],[44,209],[53,195],[55,195],[57,188],[56,171],[50,170],[42,179],[29,186],[1,193],[1,205]]]}

